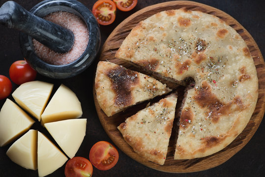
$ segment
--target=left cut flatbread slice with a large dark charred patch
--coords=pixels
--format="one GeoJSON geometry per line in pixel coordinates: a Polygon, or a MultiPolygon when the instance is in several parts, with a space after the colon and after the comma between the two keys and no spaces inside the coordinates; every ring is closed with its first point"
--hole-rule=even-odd
{"type": "Polygon", "coordinates": [[[95,89],[98,104],[108,117],[171,91],[152,77],[108,61],[97,65],[95,89]]]}

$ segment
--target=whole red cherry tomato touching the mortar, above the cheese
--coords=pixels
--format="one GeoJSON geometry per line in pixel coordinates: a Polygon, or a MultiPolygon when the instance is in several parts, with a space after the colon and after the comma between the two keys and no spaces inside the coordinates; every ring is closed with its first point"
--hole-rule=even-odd
{"type": "Polygon", "coordinates": [[[36,75],[37,72],[25,60],[15,61],[9,68],[10,79],[17,85],[33,81],[36,75]]]}

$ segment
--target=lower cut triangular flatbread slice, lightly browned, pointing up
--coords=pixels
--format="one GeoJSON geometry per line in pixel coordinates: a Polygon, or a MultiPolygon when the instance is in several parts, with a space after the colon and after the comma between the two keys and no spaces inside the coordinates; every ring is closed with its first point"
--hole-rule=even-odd
{"type": "Polygon", "coordinates": [[[171,94],[118,126],[124,140],[142,157],[163,165],[175,118],[177,95],[171,94]]]}

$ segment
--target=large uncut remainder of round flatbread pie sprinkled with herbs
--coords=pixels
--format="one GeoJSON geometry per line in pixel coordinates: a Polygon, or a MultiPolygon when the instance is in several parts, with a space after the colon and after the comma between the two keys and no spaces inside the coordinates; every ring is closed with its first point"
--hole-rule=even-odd
{"type": "Polygon", "coordinates": [[[132,29],[116,57],[177,83],[194,79],[182,104],[175,159],[225,148],[255,109],[258,78],[249,49],[213,15],[186,9],[157,13],[132,29]]]}

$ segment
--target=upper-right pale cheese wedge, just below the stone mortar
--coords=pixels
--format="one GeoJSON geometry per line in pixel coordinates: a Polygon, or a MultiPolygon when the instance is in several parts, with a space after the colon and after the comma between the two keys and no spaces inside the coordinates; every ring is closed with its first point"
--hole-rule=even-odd
{"type": "Polygon", "coordinates": [[[82,114],[81,103],[76,94],[62,84],[41,115],[41,123],[80,118],[82,114]]]}

